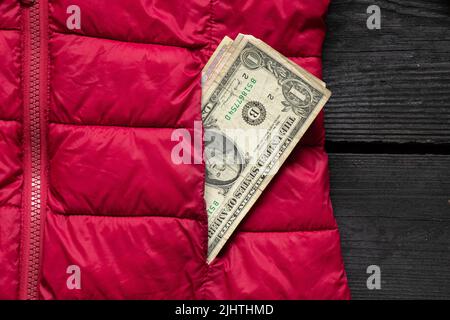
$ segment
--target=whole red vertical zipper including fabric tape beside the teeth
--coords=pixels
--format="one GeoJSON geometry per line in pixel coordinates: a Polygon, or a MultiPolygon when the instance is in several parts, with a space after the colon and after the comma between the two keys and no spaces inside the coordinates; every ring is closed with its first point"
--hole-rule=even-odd
{"type": "MultiPolygon", "coordinates": [[[[21,232],[21,274],[19,296],[39,298],[42,221],[45,216],[45,107],[47,91],[46,37],[41,32],[43,0],[20,0],[23,19],[23,164],[24,191],[21,232]],[[42,7],[41,7],[42,6],[42,7]]],[[[46,11],[44,18],[46,18],[46,11]]],[[[43,25],[43,24],[42,24],[43,25]]]]}

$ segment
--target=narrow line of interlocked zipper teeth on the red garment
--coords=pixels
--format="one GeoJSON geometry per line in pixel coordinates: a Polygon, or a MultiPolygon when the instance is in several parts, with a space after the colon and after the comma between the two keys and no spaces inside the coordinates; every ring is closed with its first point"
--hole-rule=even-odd
{"type": "Polygon", "coordinates": [[[30,244],[28,256],[28,299],[38,298],[41,234],[41,126],[40,126],[40,19],[39,1],[30,8],[30,152],[31,202],[30,244]]]}

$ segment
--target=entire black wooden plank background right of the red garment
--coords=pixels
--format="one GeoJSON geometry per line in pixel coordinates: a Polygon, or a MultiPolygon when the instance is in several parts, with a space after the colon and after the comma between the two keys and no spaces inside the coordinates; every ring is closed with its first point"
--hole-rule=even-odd
{"type": "Polygon", "coordinates": [[[450,299],[450,1],[332,0],[331,197],[354,299],[450,299]],[[381,29],[368,30],[369,5],[381,29]],[[381,290],[366,269],[381,268],[381,290]]]}

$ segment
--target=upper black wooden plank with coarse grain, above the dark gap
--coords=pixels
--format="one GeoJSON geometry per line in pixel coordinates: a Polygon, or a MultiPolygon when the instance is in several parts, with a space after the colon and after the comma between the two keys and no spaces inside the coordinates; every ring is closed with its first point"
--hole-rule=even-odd
{"type": "Polygon", "coordinates": [[[450,2],[333,0],[324,79],[330,141],[450,143],[450,2]],[[381,8],[381,30],[366,27],[381,8]]]}

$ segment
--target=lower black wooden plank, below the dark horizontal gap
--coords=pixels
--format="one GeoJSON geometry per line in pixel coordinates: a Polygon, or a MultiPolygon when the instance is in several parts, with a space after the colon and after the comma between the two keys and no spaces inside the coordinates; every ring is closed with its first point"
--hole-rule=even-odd
{"type": "Polygon", "coordinates": [[[330,174],[353,298],[450,299],[450,156],[330,154],[330,174]]]}

